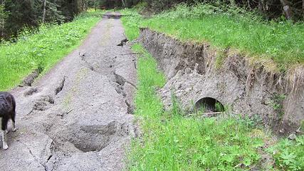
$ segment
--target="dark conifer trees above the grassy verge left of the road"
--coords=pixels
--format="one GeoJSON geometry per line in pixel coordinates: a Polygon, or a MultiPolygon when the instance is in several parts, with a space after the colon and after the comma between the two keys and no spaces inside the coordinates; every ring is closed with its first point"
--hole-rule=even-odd
{"type": "Polygon", "coordinates": [[[17,36],[22,28],[36,28],[42,22],[71,21],[82,7],[81,0],[1,0],[0,41],[17,36]]]}

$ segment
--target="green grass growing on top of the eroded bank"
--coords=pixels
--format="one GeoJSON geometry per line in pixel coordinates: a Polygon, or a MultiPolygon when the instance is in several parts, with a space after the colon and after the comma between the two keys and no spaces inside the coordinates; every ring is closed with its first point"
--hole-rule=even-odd
{"type": "Polygon", "coordinates": [[[128,16],[129,21],[137,21],[133,22],[133,28],[137,24],[137,28],[148,27],[180,41],[208,42],[216,48],[233,48],[258,61],[274,61],[275,69],[281,71],[304,63],[304,24],[266,22],[254,19],[256,14],[241,16],[234,14],[236,11],[221,13],[214,8],[206,4],[192,8],[180,5],[151,19],[140,19],[132,10],[125,13],[132,14],[128,16]]]}

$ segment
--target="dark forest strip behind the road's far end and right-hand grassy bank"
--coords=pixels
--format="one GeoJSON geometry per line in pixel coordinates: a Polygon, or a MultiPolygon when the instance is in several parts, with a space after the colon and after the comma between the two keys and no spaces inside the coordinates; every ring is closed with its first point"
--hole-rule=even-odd
{"type": "Polygon", "coordinates": [[[266,19],[278,19],[285,16],[294,21],[303,20],[304,0],[95,0],[98,4],[106,7],[132,7],[136,4],[144,4],[145,11],[152,13],[170,9],[177,4],[193,5],[197,3],[212,4],[221,9],[242,8],[246,11],[259,11],[266,19]]]}

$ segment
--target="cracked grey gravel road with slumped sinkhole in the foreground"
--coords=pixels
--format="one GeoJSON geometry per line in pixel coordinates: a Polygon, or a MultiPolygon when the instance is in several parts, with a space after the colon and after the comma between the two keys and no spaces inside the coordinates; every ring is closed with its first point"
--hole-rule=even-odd
{"type": "Polygon", "coordinates": [[[0,170],[123,169],[136,136],[136,61],[129,46],[117,46],[120,14],[105,16],[46,76],[11,90],[18,130],[0,150],[0,170]]]}

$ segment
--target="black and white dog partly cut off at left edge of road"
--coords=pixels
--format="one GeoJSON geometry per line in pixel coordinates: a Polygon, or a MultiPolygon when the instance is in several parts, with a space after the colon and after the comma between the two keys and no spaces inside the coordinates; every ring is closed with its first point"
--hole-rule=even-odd
{"type": "Polygon", "coordinates": [[[13,131],[16,131],[15,116],[16,116],[16,101],[13,95],[6,92],[0,92],[0,125],[1,125],[1,137],[2,147],[4,150],[9,146],[6,142],[7,123],[11,119],[13,121],[13,131]]]}

